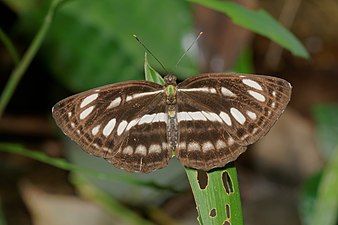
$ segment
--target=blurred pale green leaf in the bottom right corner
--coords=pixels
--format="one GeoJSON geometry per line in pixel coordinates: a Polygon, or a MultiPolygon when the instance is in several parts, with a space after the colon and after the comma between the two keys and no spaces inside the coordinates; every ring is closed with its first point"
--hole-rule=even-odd
{"type": "Polygon", "coordinates": [[[310,225],[336,225],[338,221],[338,146],[323,171],[310,225]]]}

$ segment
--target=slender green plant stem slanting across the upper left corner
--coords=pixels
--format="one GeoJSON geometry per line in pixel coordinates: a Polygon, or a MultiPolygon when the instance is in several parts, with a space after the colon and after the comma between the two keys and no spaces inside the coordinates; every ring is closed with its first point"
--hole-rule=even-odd
{"type": "Polygon", "coordinates": [[[25,52],[24,56],[22,57],[21,61],[19,62],[19,64],[16,66],[16,68],[13,70],[13,72],[11,73],[9,80],[1,94],[0,97],[0,118],[9,102],[9,100],[11,99],[11,97],[14,94],[14,91],[19,83],[19,81],[21,80],[23,74],[26,72],[28,66],[30,65],[30,63],[32,62],[34,56],[36,55],[37,51],[39,50],[43,40],[46,37],[46,34],[49,30],[49,27],[51,25],[51,22],[53,20],[53,16],[56,12],[57,7],[60,5],[60,3],[63,2],[63,0],[53,0],[47,15],[43,21],[43,24],[40,27],[40,30],[38,31],[38,33],[36,34],[36,36],[34,37],[31,45],[29,46],[29,48],[27,49],[27,51],[25,52]]]}

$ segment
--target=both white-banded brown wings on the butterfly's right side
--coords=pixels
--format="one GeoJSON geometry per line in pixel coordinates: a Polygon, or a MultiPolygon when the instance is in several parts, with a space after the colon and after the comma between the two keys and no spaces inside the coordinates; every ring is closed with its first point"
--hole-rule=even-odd
{"type": "Polygon", "coordinates": [[[290,84],[275,77],[204,74],[183,81],[177,157],[202,170],[235,160],[270,130],[290,95],[290,84]]]}

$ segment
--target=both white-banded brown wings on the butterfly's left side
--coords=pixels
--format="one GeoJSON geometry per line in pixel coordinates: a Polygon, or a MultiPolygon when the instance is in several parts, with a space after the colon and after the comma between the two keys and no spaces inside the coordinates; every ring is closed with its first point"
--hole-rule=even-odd
{"type": "Polygon", "coordinates": [[[107,85],[58,102],[53,117],[89,154],[127,171],[150,172],[169,160],[162,89],[147,81],[107,85]]]}

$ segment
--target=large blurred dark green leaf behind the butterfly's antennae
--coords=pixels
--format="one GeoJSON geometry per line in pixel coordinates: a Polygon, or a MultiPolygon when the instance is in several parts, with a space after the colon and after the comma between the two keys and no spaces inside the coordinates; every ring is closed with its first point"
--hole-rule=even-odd
{"type": "MultiPolygon", "coordinates": [[[[22,20],[32,26],[29,17],[22,20]]],[[[137,34],[168,69],[186,77],[196,73],[195,60],[186,57],[177,70],[174,65],[184,52],[183,38],[192,32],[185,1],[68,1],[55,17],[44,53],[56,77],[73,91],[140,80],[143,51],[132,36],[137,34]]]]}

